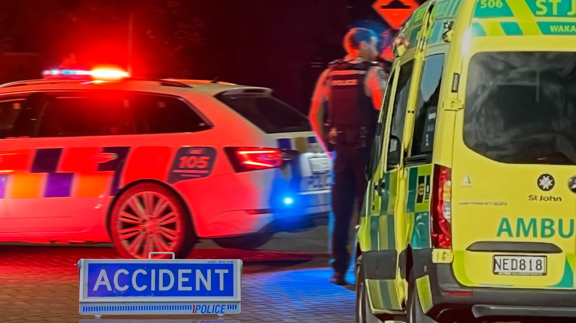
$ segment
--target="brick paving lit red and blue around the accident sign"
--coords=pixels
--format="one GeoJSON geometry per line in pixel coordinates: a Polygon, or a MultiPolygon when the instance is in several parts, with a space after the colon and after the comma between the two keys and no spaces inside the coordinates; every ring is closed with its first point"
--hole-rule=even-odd
{"type": "MultiPolygon", "coordinates": [[[[3,323],[78,322],[78,269],[84,259],[115,259],[110,248],[0,245],[0,320],[3,323]]],[[[354,322],[352,286],[327,282],[331,271],[319,254],[196,249],[190,259],[242,259],[241,313],[230,316],[104,316],[107,320],[237,320],[354,322]]],[[[353,281],[350,273],[349,281],[353,281]]],[[[104,321],[104,320],[103,320],[104,321]]],[[[126,321],[127,323],[129,321],[126,321]]],[[[158,322],[158,321],[156,321],[158,322]]]]}

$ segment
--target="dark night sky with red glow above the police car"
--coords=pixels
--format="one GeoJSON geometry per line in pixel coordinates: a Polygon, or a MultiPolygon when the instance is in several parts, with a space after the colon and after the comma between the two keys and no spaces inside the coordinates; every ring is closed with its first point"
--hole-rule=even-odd
{"type": "Polygon", "coordinates": [[[70,52],[82,64],[126,66],[132,12],[135,74],[267,86],[306,112],[323,64],[344,55],[348,28],[387,28],[372,2],[0,0],[0,51],[37,52],[42,68],[70,52]]]}

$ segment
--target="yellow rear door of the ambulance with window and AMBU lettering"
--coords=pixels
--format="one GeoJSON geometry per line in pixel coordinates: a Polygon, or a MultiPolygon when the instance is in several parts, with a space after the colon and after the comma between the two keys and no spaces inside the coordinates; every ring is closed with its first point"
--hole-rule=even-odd
{"type": "Polygon", "coordinates": [[[575,66],[574,52],[501,50],[465,64],[452,168],[465,286],[574,288],[575,66]]]}

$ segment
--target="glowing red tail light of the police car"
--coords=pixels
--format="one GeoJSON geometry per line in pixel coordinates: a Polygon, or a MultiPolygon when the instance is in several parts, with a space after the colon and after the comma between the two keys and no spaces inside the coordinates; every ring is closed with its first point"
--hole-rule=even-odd
{"type": "Polygon", "coordinates": [[[260,147],[226,147],[236,172],[278,168],[294,159],[298,151],[260,147]]]}

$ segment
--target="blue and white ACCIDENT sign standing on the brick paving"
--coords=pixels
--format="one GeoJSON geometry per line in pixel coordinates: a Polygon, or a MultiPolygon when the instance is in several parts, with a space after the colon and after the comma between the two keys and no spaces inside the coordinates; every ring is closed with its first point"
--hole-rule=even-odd
{"type": "Polygon", "coordinates": [[[240,313],[241,260],[82,259],[80,314],[240,313]]]}

